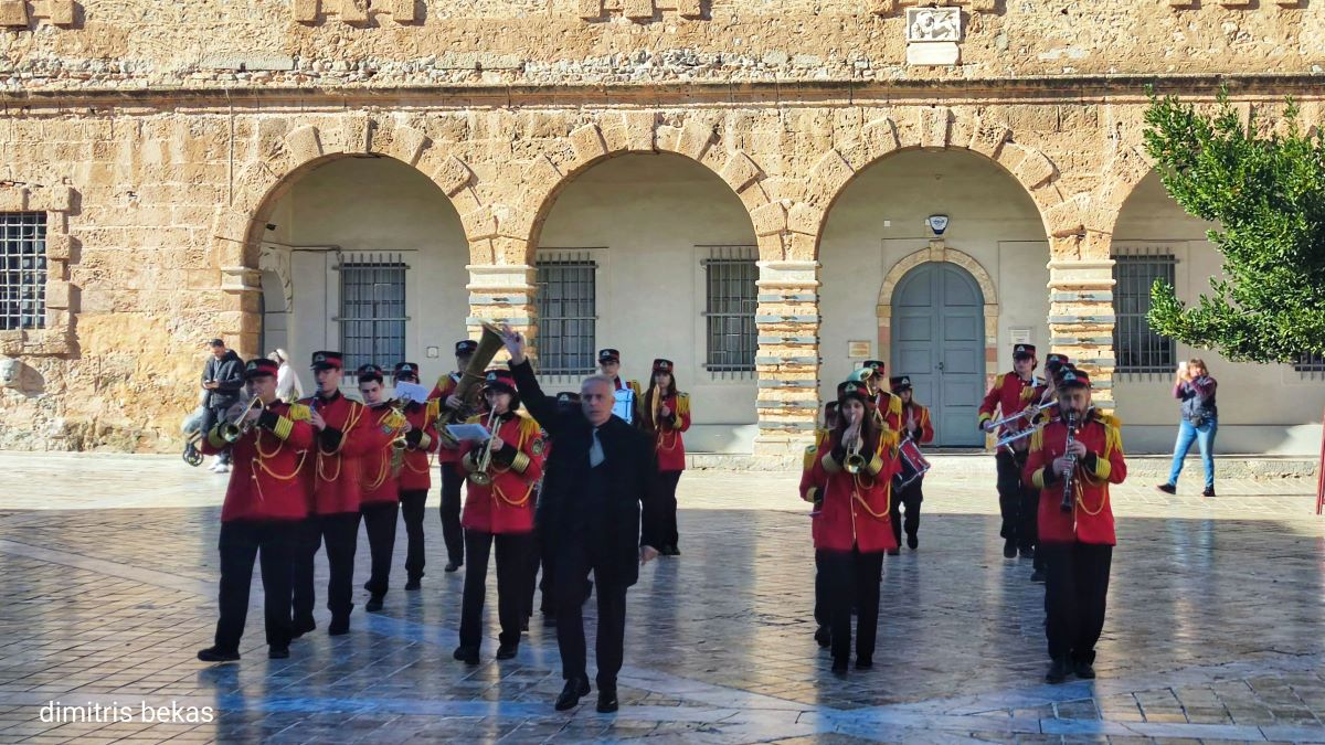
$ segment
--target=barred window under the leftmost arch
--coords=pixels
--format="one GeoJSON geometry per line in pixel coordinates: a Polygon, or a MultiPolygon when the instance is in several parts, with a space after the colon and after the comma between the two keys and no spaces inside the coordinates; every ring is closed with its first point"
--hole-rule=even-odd
{"type": "Polygon", "coordinates": [[[405,358],[405,265],[399,253],[356,255],[341,264],[341,353],[346,372],[391,369],[405,358]]]}

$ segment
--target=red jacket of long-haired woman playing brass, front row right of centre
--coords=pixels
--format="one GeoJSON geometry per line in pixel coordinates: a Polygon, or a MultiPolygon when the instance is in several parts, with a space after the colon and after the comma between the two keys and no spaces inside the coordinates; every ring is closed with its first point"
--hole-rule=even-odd
{"type": "MultiPolygon", "coordinates": [[[[800,477],[800,497],[822,501],[812,530],[815,547],[829,551],[884,551],[897,547],[889,518],[893,475],[897,473],[897,447],[880,437],[878,445],[860,473],[848,473],[833,457],[839,435],[829,432],[800,477]]],[[[810,455],[807,453],[807,457],[810,455]]]]}

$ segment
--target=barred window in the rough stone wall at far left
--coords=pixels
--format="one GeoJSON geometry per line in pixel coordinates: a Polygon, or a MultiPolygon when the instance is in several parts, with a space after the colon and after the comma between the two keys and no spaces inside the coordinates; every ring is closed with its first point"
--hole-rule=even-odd
{"type": "Polygon", "coordinates": [[[46,213],[0,212],[0,330],[46,325],[46,213]]]}

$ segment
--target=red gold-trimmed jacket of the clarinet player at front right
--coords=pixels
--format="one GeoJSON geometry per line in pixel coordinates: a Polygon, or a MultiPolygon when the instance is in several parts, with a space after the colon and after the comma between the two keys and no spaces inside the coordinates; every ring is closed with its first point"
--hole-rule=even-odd
{"type": "Polygon", "coordinates": [[[1067,451],[1068,428],[1053,419],[1031,435],[1030,453],[1022,473],[1027,485],[1040,490],[1039,538],[1041,544],[1101,544],[1113,546],[1113,508],[1109,484],[1128,477],[1122,456],[1122,433],[1118,420],[1092,410],[1076,433],[1085,445],[1085,457],[1077,459],[1072,477],[1072,512],[1063,512],[1064,483],[1053,473],[1053,461],[1067,451]]]}

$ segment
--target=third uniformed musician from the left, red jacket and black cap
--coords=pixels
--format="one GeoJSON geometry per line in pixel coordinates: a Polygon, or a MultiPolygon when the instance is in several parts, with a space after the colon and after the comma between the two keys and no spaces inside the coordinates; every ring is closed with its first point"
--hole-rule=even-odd
{"type": "Polygon", "coordinates": [[[359,367],[359,395],[367,411],[363,412],[360,437],[364,441],[359,513],[368,534],[368,554],[372,571],[363,589],[370,593],[363,610],[382,610],[391,581],[391,554],[396,547],[396,518],[400,513],[400,468],[404,464],[404,436],[409,422],[404,412],[387,400],[382,386],[382,369],[376,365],[359,367]],[[399,443],[396,441],[399,439],[399,443]],[[401,445],[400,448],[395,445],[401,445]],[[399,459],[399,460],[398,460],[399,459]]]}

